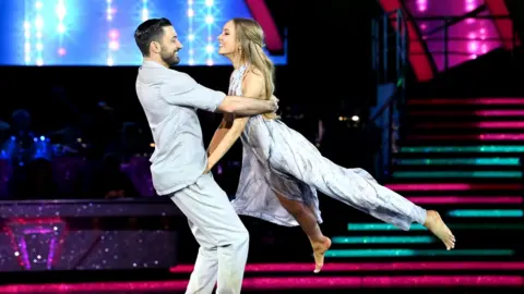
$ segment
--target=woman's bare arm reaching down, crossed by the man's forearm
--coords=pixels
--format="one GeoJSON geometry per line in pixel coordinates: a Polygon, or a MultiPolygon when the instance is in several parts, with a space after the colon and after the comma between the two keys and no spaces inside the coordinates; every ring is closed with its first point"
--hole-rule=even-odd
{"type": "MultiPolygon", "coordinates": [[[[251,98],[260,98],[264,93],[264,78],[261,74],[253,73],[249,71],[246,73],[243,83],[242,83],[242,91],[245,97],[251,98]]],[[[221,135],[223,134],[222,140],[216,144],[216,147],[212,150],[210,144],[210,151],[211,155],[207,159],[207,169],[206,171],[211,171],[213,167],[221,160],[224,155],[231,148],[231,146],[237,142],[237,139],[242,134],[246,124],[248,123],[249,117],[235,117],[233,124],[230,127],[225,127],[226,131],[221,131],[221,135]],[[224,133],[222,133],[224,132],[224,133]]],[[[218,139],[217,135],[217,138],[218,139]]],[[[216,142],[216,140],[215,140],[216,142]]]]}

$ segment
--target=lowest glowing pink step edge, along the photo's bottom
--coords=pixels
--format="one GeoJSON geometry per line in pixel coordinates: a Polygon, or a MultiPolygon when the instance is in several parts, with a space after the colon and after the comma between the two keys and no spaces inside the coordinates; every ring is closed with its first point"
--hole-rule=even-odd
{"type": "MultiPolygon", "coordinates": [[[[310,269],[310,271],[312,271],[310,269]]],[[[355,290],[372,289],[405,289],[419,287],[418,293],[430,293],[428,289],[438,287],[450,293],[451,287],[486,287],[509,290],[519,289],[524,285],[524,278],[509,274],[434,274],[434,275],[391,275],[383,273],[373,277],[355,275],[293,275],[293,277],[257,277],[245,278],[242,290],[257,291],[257,293],[326,293],[329,291],[345,290],[344,293],[353,293],[355,290]],[[448,290],[445,290],[448,289],[448,290]],[[312,290],[315,290],[312,292],[312,290]],[[424,290],[424,291],[422,291],[424,290]]],[[[184,293],[188,281],[128,281],[128,282],[91,282],[91,283],[32,283],[32,284],[5,284],[0,285],[0,293],[184,293]]],[[[388,293],[388,292],[381,292],[388,293]]],[[[453,293],[453,292],[451,292],[453,293]]],[[[468,292],[466,292],[468,293],[468,292]]],[[[511,292],[510,292],[511,293],[511,292]]],[[[514,293],[514,290],[513,290],[514,293]]]]}

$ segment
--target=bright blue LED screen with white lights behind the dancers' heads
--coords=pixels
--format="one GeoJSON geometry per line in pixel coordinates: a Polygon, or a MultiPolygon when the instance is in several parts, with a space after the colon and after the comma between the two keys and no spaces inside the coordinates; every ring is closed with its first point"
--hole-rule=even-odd
{"type": "MultiPolygon", "coordinates": [[[[252,17],[245,0],[1,0],[1,65],[139,65],[135,27],[168,17],[184,49],[181,65],[226,65],[216,37],[233,17],[252,17]]],[[[251,9],[253,9],[251,7],[251,9]]],[[[286,54],[271,57],[286,63],[286,54]]]]}

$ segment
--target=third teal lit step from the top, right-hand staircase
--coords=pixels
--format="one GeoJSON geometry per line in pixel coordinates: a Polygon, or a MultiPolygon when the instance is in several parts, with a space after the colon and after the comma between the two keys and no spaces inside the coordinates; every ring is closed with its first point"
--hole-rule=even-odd
{"type": "Polygon", "coordinates": [[[520,171],[396,171],[393,177],[522,177],[520,171]]]}

